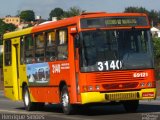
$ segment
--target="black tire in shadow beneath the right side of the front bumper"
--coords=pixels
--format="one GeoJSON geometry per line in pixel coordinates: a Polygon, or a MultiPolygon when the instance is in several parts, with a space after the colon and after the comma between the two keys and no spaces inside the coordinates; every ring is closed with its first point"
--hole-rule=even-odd
{"type": "Polygon", "coordinates": [[[124,101],[123,106],[128,113],[134,113],[137,111],[138,106],[139,106],[139,100],[129,100],[129,101],[124,101]]]}

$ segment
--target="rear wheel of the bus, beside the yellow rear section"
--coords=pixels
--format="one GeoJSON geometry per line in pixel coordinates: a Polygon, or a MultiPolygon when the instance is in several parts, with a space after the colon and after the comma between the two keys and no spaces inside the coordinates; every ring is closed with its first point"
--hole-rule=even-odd
{"type": "Polygon", "coordinates": [[[23,89],[23,102],[27,111],[35,110],[37,107],[35,102],[31,102],[30,93],[27,86],[23,89]]]}

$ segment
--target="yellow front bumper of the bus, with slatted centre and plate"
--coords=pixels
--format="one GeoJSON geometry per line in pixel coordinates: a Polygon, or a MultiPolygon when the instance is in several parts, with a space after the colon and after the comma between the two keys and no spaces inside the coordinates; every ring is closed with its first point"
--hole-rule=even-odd
{"type": "Polygon", "coordinates": [[[127,92],[85,92],[81,93],[82,104],[123,100],[147,100],[156,98],[156,88],[127,92]]]}

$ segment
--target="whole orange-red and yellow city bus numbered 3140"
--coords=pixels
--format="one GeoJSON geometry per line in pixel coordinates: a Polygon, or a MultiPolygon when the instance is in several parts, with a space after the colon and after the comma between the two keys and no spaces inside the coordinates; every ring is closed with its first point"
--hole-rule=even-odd
{"type": "Polygon", "coordinates": [[[6,33],[4,93],[26,110],[120,102],[127,112],[156,97],[148,18],[142,13],[84,13],[6,33]]]}

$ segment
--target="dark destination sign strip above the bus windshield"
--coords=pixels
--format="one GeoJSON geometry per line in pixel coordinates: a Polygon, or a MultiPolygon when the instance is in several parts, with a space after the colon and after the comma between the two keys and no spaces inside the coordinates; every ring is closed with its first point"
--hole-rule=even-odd
{"type": "Polygon", "coordinates": [[[81,19],[81,28],[148,26],[146,17],[105,17],[81,19]]]}

